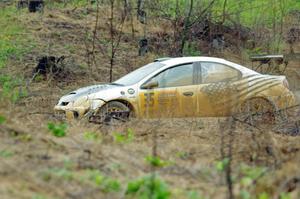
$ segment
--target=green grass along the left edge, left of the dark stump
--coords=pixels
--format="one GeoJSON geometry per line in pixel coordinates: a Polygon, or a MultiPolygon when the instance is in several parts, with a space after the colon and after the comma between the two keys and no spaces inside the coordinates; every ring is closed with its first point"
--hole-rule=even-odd
{"type": "Polygon", "coordinates": [[[21,89],[23,77],[13,77],[5,70],[10,61],[20,60],[25,53],[34,47],[26,27],[19,20],[23,11],[15,6],[1,8],[0,12],[0,97],[16,102],[26,95],[21,89]]]}

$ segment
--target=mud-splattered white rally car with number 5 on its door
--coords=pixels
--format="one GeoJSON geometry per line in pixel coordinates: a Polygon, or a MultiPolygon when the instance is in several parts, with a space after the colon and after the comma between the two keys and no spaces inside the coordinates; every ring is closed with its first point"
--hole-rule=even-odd
{"type": "Polygon", "coordinates": [[[61,97],[55,112],[90,121],[224,117],[238,113],[274,120],[295,104],[285,76],[257,73],[214,57],[161,58],[115,82],[61,97]]]}

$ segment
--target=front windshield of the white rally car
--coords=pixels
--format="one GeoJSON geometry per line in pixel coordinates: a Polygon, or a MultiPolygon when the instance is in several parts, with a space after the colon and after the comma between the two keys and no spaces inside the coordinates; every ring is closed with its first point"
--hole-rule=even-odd
{"type": "Polygon", "coordinates": [[[144,79],[147,75],[150,73],[156,71],[157,69],[161,68],[165,64],[162,64],[160,62],[153,62],[150,64],[147,64],[137,70],[132,71],[131,73],[121,77],[117,81],[113,82],[114,84],[121,84],[124,86],[130,86],[133,84],[138,83],[142,79],[144,79]]]}

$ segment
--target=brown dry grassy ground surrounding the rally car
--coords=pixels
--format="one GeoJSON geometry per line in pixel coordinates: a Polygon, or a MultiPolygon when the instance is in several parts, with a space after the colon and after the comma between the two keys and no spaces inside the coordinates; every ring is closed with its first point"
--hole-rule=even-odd
{"type": "MultiPolygon", "coordinates": [[[[12,23],[26,27],[22,34],[29,35],[25,37],[30,40],[26,43],[30,50],[20,59],[10,59],[2,72],[25,76],[28,82],[37,58],[64,55],[68,73],[62,79],[30,82],[29,95],[16,103],[0,102],[0,115],[6,118],[0,124],[1,199],[140,198],[128,191],[128,185],[153,173],[149,163],[153,146],[160,157],[156,177],[168,185],[159,187],[169,190],[170,198],[226,198],[228,183],[222,165],[229,145],[233,191],[238,197],[248,190],[255,198],[262,193],[279,198],[287,192],[291,198],[300,198],[300,136],[271,128],[260,130],[230,118],[133,119],[121,126],[80,120],[67,122],[66,136],[54,137],[47,125],[58,121],[53,107],[60,96],[108,81],[105,55],[98,52],[97,67],[86,65],[85,27],[92,30],[94,17],[95,13],[86,15],[81,9],[46,9],[43,14],[21,12],[12,17],[12,23]],[[132,139],[119,138],[131,132],[132,139]],[[247,177],[251,186],[244,182],[247,177]]],[[[99,24],[105,32],[105,21],[99,24]]],[[[166,26],[153,23],[149,31],[155,35],[162,25],[166,26]]],[[[121,43],[114,79],[157,56],[150,52],[138,57],[132,50],[143,34],[141,27],[135,28],[135,42],[121,43]]],[[[130,40],[131,29],[124,31],[130,40]]],[[[225,58],[249,63],[230,51],[225,58]]],[[[298,74],[299,62],[291,62],[286,75],[300,98],[298,74]]]]}

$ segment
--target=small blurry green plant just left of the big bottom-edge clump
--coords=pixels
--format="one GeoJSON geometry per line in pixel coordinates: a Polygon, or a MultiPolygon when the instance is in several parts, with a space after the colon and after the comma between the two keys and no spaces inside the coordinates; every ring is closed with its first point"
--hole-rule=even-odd
{"type": "Polygon", "coordinates": [[[118,192],[121,184],[118,180],[102,175],[97,170],[90,170],[90,180],[94,182],[103,192],[118,192]]]}

